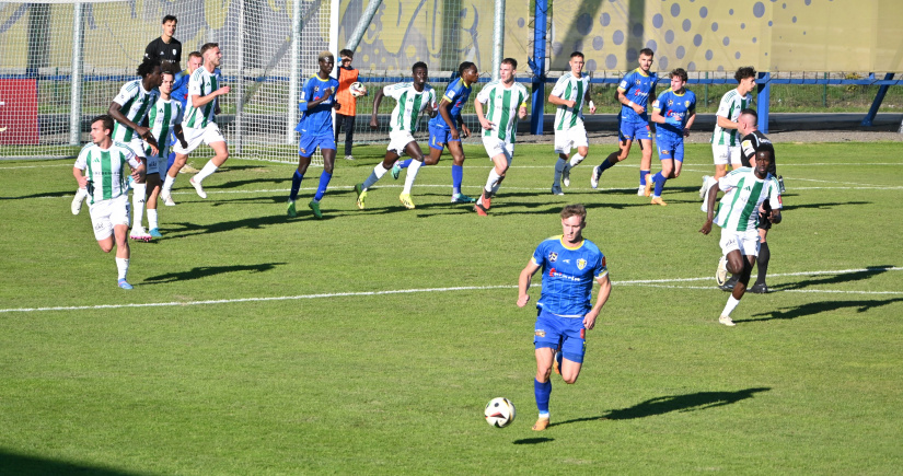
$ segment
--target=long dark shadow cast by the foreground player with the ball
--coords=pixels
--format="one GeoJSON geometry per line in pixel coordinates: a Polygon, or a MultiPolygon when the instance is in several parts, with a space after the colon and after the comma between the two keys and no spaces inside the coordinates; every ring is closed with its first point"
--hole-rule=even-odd
{"type": "Polygon", "coordinates": [[[696,411],[705,410],[751,398],[759,392],[767,392],[771,387],[745,388],[737,392],[697,392],[686,395],[668,395],[650,398],[628,408],[609,410],[607,414],[598,417],[576,418],[549,425],[577,423],[581,421],[595,420],[632,420],[635,418],[653,417],[657,415],[670,414],[672,411],[696,411]]]}

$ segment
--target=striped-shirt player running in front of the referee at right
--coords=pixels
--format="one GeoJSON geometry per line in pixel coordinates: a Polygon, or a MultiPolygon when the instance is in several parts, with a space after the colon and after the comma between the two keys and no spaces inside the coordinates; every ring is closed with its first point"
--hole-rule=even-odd
{"type": "Polygon", "coordinates": [[[750,274],[755,257],[759,255],[761,241],[756,225],[762,204],[767,200],[771,206],[772,211],[767,214],[768,221],[776,224],[782,220],[780,185],[777,178],[768,173],[768,166],[774,156],[775,149],[769,142],[760,144],[755,152],[755,167],[734,170],[718,181],[717,188],[711,187],[708,191],[709,206],[706,222],[699,232],[708,234],[711,231],[713,221],[721,227],[722,256],[716,274],[718,286],[725,283],[728,271],[740,275],[728,299],[728,304],[718,318],[718,322],[727,326],[734,325],[730,313],[746,292],[750,274]],[[715,198],[719,189],[725,191],[725,196],[721,198],[718,217],[713,220],[715,198]]]}

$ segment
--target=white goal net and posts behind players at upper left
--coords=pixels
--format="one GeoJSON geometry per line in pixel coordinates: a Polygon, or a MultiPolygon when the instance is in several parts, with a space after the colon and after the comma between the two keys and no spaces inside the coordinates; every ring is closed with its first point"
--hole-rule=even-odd
{"type": "Polygon", "coordinates": [[[178,19],[182,67],[205,43],[222,50],[231,92],[217,118],[234,156],[298,160],[298,98],[336,51],[338,0],[221,2],[0,2],[0,158],[76,156],[89,121],[105,114],[136,69],[164,15],[178,19]]]}

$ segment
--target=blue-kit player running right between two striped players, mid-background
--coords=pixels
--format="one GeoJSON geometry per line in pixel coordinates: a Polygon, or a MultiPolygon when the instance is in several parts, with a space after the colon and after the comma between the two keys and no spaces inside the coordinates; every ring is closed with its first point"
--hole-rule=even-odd
{"type": "MultiPolygon", "coordinates": [[[[401,169],[408,169],[408,174],[417,174],[420,165],[436,165],[442,156],[445,147],[452,154],[452,204],[473,204],[476,199],[461,193],[461,183],[464,179],[464,149],[461,147],[461,138],[471,136],[471,129],[464,124],[461,117],[461,109],[467,104],[471,97],[472,85],[479,79],[476,65],[464,61],[458,67],[458,79],[452,81],[445,89],[445,94],[439,102],[436,117],[429,121],[429,155],[422,163],[413,159],[395,164],[392,176],[398,176],[401,169]]],[[[408,207],[410,208],[410,207],[408,207]]]]}

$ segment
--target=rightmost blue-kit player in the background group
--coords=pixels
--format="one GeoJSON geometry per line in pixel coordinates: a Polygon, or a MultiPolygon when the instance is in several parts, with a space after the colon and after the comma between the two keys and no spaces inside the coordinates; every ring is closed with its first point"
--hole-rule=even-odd
{"type": "Polygon", "coordinates": [[[696,94],[686,89],[686,71],[678,68],[670,73],[671,89],[659,94],[652,104],[652,121],[656,127],[656,147],[659,150],[661,172],[647,177],[646,193],[652,205],[665,206],[661,190],[669,178],[678,178],[683,166],[683,139],[696,120],[696,94]],[[655,186],[655,190],[652,187],[655,186]]]}

